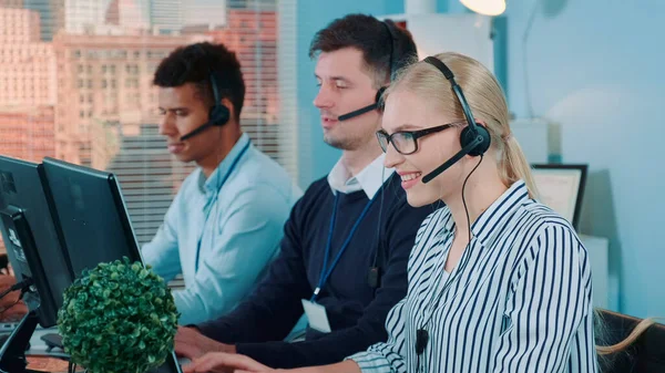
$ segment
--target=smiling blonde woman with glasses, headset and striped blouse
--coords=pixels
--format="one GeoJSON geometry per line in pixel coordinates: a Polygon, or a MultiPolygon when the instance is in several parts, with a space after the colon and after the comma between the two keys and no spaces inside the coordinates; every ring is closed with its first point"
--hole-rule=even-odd
{"type": "MultiPolygon", "coordinates": [[[[420,227],[389,340],[301,372],[596,372],[591,266],[570,222],[534,199],[494,76],[442,53],[387,93],[377,134],[420,227]]],[[[209,354],[186,372],[269,371],[209,354]]]]}

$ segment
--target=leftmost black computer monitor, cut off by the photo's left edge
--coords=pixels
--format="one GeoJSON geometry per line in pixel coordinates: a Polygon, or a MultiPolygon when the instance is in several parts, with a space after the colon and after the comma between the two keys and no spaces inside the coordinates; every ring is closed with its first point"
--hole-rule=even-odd
{"type": "Polygon", "coordinates": [[[43,179],[43,166],[0,156],[0,230],[7,256],[18,282],[33,281],[35,291],[23,300],[40,325],[50,328],[73,277],[43,179]]]}

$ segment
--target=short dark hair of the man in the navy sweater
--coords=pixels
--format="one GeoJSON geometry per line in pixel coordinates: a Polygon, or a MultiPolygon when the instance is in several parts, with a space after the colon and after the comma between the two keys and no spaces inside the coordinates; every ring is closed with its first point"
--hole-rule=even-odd
{"type": "Polygon", "coordinates": [[[391,74],[417,59],[416,43],[409,31],[391,20],[379,21],[367,14],[348,14],[319,30],[309,45],[309,58],[349,46],[362,52],[365,65],[375,74],[378,86],[385,85],[391,74]],[[395,60],[396,71],[390,69],[391,60],[395,60]]]}

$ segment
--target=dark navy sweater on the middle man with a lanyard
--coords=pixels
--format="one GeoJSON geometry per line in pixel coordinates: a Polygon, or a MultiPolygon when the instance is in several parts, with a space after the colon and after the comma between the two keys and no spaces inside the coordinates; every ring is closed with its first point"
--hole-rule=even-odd
{"type": "MultiPolygon", "coordinates": [[[[308,329],[304,342],[283,341],[303,314],[301,299],[311,298],[323,270],[335,205],[325,177],[311,184],[294,206],[280,253],[255,291],[229,314],[197,328],[208,338],[236,344],[238,353],[277,369],[339,362],[386,341],[388,311],[407,293],[407,261],[416,232],[438,207],[410,207],[400,183],[393,174],[376,194],[318,296],[332,332],[308,329]],[[381,280],[374,289],[367,277],[377,252],[381,280]]],[[[368,201],[364,190],[339,195],[328,266],[368,201]]]]}

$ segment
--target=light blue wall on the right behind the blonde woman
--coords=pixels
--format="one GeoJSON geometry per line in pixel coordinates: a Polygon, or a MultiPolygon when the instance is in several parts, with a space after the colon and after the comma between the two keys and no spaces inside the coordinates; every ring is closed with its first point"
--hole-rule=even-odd
{"type": "Polygon", "coordinates": [[[610,238],[620,310],[665,317],[665,2],[513,0],[507,19],[512,111],[559,126],[563,163],[589,163],[581,230],[610,238]]]}

